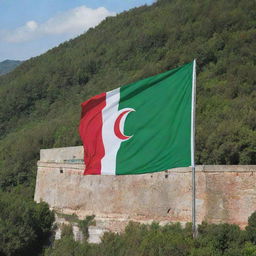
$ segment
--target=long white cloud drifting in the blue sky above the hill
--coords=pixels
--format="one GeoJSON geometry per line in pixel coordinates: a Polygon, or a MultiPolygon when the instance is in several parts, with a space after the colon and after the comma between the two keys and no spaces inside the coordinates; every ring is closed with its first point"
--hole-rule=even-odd
{"type": "Polygon", "coordinates": [[[2,41],[20,43],[47,35],[77,36],[89,28],[97,26],[107,16],[114,15],[114,12],[110,12],[104,7],[91,9],[83,5],[59,13],[42,24],[30,20],[24,26],[12,31],[0,31],[0,38],[2,41]]]}

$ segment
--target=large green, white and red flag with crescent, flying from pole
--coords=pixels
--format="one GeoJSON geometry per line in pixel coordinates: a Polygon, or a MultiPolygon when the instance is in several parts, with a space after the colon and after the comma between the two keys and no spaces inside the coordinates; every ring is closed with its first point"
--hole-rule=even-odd
{"type": "Polygon", "coordinates": [[[84,174],[191,166],[193,63],[82,103],[84,174]]]}

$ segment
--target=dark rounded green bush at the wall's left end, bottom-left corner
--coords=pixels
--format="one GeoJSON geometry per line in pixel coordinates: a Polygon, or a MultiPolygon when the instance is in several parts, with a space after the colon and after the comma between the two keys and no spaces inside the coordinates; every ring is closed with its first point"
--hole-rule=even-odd
{"type": "Polygon", "coordinates": [[[49,242],[53,221],[46,203],[0,193],[0,255],[38,255],[49,242]]]}

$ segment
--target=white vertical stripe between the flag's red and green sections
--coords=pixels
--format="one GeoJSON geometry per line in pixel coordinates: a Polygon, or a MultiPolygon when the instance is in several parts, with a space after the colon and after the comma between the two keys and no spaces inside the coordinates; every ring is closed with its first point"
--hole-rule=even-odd
{"type": "Polygon", "coordinates": [[[116,174],[116,155],[122,140],[114,133],[114,124],[118,117],[118,105],[120,99],[120,88],[106,93],[106,106],[102,111],[103,127],[102,138],[105,156],[101,160],[101,174],[116,174]]]}

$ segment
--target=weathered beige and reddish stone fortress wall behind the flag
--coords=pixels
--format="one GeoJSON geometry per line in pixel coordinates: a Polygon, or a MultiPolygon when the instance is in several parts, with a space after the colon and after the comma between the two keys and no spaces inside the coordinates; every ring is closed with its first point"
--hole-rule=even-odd
{"type": "MultiPolygon", "coordinates": [[[[133,220],[191,221],[191,168],[130,176],[83,176],[82,147],[41,150],[35,200],[97,226],[122,231],[133,220]]],[[[197,222],[244,227],[256,210],[256,166],[196,167],[197,222]]]]}

